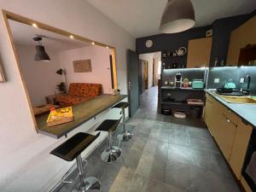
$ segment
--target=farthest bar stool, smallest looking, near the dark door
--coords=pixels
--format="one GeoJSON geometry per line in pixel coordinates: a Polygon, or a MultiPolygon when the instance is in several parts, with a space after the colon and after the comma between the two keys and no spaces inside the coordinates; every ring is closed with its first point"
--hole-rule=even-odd
{"type": "Polygon", "coordinates": [[[126,131],[125,129],[125,108],[129,106],[128,102],[119,102],[113,108],[121,108],[122,109],[122,118],[123,118],[123,133],[118,135],[119,141],[129,141],[132,137],[132,133],[129,131],[126,131]]]}

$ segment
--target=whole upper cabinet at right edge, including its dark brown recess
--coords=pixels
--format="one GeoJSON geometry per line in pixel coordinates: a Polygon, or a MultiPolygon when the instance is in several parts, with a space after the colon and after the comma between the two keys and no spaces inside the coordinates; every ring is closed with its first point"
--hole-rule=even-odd
{"type": "Polygon", "coordinates": [[[237,27],[230,36],[229,65],[248,65],[256,60],[256,16],[237,27]]]}

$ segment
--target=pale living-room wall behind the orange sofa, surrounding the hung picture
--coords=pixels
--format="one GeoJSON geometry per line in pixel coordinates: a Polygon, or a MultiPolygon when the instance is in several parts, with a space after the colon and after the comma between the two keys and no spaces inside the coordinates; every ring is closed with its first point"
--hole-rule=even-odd
{"type": "Polygon", "coordinates": [[[100,46],[89,46],[79,49],[71,49],[58,53],[61,68],[67,69],[69,83],[96,83],[102,84],[103,92],[111,94],[111,71],[109,55],[111,50],[100,46]],[[91,73],[74,73],[73,61],[91,61],[91,73]]]}

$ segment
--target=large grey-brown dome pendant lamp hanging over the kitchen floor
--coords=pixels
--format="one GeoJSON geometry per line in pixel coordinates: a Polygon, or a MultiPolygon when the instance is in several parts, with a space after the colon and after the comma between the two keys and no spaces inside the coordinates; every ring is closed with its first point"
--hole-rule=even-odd
{"type": "Polygon", "coordinates": [[[190,0],[168,0],[160,21],[160,32],[183,32],[195,26],[195,11],[190,0]]]}

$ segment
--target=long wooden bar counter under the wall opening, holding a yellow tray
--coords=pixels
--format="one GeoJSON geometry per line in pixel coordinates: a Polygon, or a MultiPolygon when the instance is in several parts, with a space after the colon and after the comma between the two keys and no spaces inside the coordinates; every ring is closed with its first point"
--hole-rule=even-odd
{"type": "Polygon", "coordinates": [[[47,126],[46,119],[48,113],[40,117],[36,117],[38,123],[38,133],[42,133],[49,137],[60,138],[65,136],[68,132],[73,131],[79,125],[96,117],[97,114],[102,113],[108,108],[111,108],[114,104],[125,99],[125,95],[107,95],[96,96],[88,102],[81,102],[78,105],[73,106],[74,121],[66,124],[47,126]]]}

